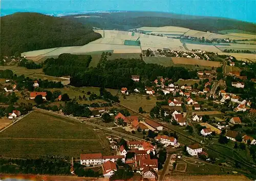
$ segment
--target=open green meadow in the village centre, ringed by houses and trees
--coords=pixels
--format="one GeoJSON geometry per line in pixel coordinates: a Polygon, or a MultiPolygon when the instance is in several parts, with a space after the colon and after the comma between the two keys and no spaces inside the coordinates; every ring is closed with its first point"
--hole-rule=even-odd
{"type": "Polygon", "coordinates": [[[150,96],[150,100],[146,99],[145,95],[130,95],[126,96],[126,99],[123,96],[119,96],[120,104],[123,104],[135,111],[139,110],[139,107],[142,107],[143,110],[149,112],[157,102],[156,97],[150,96]]]}

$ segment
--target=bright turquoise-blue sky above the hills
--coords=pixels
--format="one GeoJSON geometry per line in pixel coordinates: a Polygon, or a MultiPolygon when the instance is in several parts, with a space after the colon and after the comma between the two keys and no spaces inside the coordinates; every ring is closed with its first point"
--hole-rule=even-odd
{"type": "Polygon", "coordinates": [[[1,16],[14,12],[161,11],[256,22],[256,0],[0,0],[1,16]]]}

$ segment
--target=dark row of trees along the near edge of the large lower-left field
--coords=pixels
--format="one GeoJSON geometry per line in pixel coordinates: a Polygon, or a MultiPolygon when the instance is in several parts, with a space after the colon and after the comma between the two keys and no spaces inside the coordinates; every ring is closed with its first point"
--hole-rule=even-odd
{"type": "Polygon", "coordinates": [[[1,159],[1,173],[70,175],[71,164],[63,160],[1,159]]]}

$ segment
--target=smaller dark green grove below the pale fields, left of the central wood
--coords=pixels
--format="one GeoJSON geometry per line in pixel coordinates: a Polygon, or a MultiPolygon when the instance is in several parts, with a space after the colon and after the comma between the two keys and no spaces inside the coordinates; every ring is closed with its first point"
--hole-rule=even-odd
{"type": "Polygon", "coordinates": [[[46,59],[43,71],[46,75],[55,77],[74,76],[86,70],[91,60],[91,55],[61,54],[58,58],[46,59]]]}

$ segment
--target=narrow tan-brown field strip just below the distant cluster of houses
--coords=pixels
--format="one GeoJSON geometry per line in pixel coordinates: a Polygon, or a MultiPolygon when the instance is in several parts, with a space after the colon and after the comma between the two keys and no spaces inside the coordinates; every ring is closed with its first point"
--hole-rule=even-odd
{"type": "Polygon", "coordinates": [[[193,58],[181,58],[181,57],[172,57],[172,60],[175,64],[190,64],[190,65],[202,65],[202,66],[221,66],[220,62],[217,61],[206,61],[206,60],[198,60],[193,58]]]}

